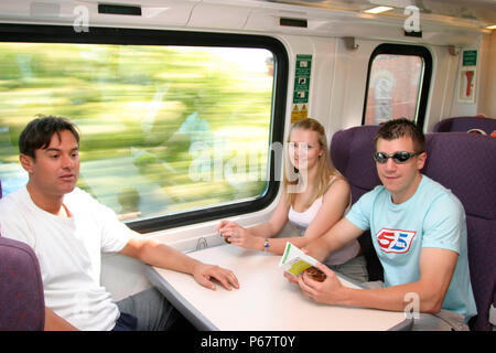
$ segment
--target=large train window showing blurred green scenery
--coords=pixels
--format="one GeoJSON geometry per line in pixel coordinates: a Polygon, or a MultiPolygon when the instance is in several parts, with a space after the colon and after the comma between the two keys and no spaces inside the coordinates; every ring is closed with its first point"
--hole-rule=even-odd
{"type": "Polygon", "coordinates": [[[276,120],[287,75],[278,42],[126,30],[116,43],[108,29],[78,36],[50,26],[30,41],[35,30],[1,35],[4,192],[28,180],[17,140],[43,114],[78,126],[78,186],[137,231],[262,207],[274,196],[271,146],[282,139],[276,120]]]}

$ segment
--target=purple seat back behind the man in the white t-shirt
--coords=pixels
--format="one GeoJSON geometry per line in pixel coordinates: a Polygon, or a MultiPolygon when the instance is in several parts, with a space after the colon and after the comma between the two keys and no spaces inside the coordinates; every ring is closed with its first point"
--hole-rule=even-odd
{"type": "Polygon", "coordinates": [[[0,234],[0,331],[44,330],[43,281],[33,249],[0,234]]]}

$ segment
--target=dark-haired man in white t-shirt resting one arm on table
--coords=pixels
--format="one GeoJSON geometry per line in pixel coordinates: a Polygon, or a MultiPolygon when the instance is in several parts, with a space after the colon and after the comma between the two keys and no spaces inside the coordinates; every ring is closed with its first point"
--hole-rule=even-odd
{"type": "Polygon", "coordinates": [[[0,224],[2,236],[29,244],[39,258],[46,330],[163,330],[180,318],[153,288],[115,303],[99,281],[101,252],[191,274],[211,289],[211,278],[228,290],[239,288],[230,270],[140,237],[76,188],[79,135],[67,119],[34,119],[22,131],[19,148],[29,182],[0,200],[0,224]]]}

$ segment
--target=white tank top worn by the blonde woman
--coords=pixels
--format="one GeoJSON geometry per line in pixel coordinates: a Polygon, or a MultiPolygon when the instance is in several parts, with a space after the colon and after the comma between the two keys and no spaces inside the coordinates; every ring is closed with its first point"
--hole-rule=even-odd
{"type": "MultiPolygon", "coordinates": [[[[334,182],[334,180],[332,181],[334,182]]],[[[322,206],[322,200],[324,196],[321,196],[316,199],[310,207],[304,212],[296,212],[293,210],[293,206],[290,207],[288,218],[291,224],[296,226],[300,229],[300,235],[303,236],[306,232],[306,228],[312,223],[312,221],[315,218],[316,214],[319,213],[319,210],[322,206]]],[[[346,211],[344,214],[348,213],[349,207],[352,205],[352,200],[349,200],[348,206],[346,207],[346,211]]],[[[325,259],[325,265],[342,265],[352,258],[356,257],[358,253],[360,252],[360,245],[358,240],[352,240],[347,245],[345,245],[339,250],[333,253],[325,259]]]]}

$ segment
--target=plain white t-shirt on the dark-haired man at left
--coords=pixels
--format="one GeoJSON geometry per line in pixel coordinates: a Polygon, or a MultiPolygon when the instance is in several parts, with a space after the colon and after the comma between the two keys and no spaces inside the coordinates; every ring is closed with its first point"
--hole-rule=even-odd
{"type": "Polygon", "coordinates": [[[41,210],[21,188],[0,200],[2,236],[34,249],[46,307],[79,330],[111,330],[119,310],[100,286],[101,252],[121,250],[136,233],[80,189],[64,205],[68,218],[41,210]]]}

